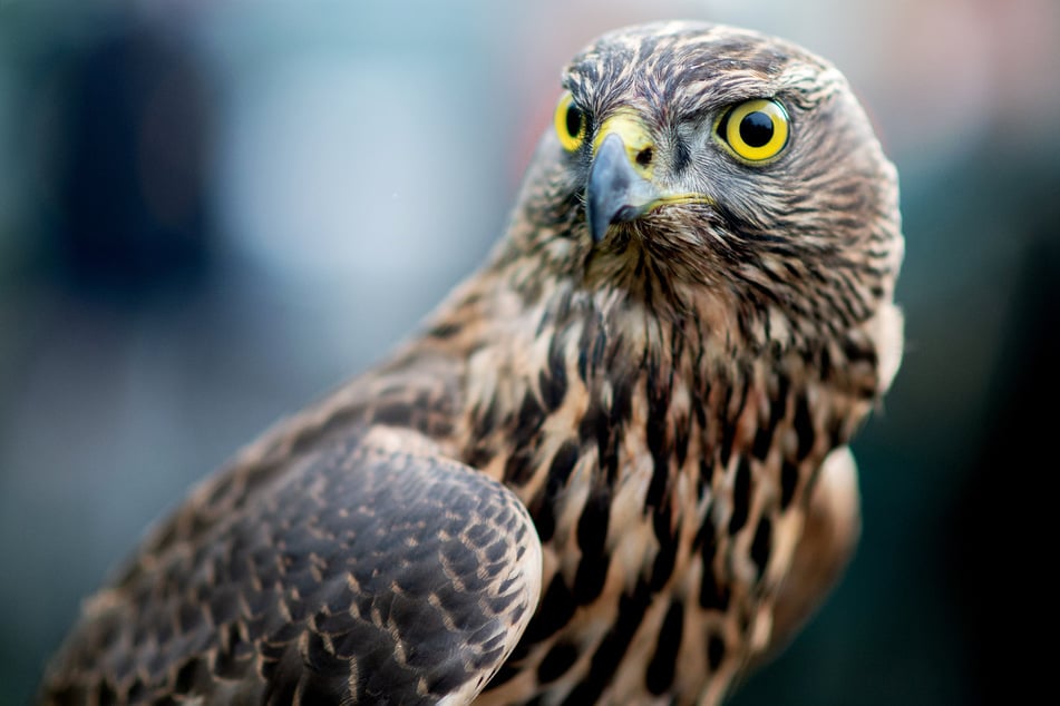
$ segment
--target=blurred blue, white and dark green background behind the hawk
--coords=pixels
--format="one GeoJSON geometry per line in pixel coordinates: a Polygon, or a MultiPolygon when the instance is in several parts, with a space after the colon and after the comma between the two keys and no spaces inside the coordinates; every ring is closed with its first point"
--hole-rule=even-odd
{"type": "Polygon", "coordinates": [[[1056,0],[0,0],[0,705],[153,519],[482,262],[565,61],[670,17],[832,59],[903,186],[863,541],[733,703],[1020,703],[1054,592],[1056,0]]]}

